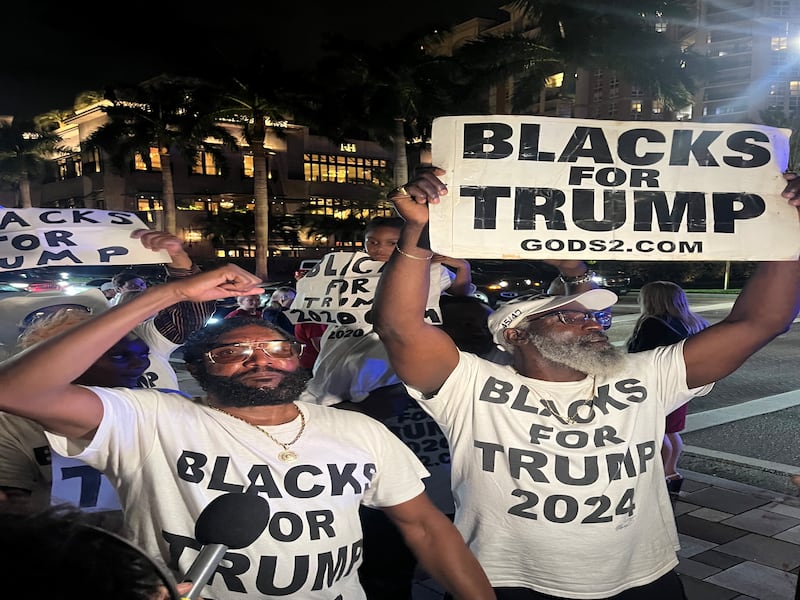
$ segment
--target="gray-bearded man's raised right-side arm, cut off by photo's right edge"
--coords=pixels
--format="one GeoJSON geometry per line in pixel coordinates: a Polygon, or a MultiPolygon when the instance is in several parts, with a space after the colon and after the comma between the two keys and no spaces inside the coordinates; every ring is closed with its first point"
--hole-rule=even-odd
{"type": "MultiPolygon", "coordinates": [[[[783,197],[800,207],[800,179],[786,175],[783,197]]],[[[800,262],[761,263],[730,314],[684,345],[686,382],[698,387],[735,371],[767,342],[788,330],[800,310],[800,262]]]]}

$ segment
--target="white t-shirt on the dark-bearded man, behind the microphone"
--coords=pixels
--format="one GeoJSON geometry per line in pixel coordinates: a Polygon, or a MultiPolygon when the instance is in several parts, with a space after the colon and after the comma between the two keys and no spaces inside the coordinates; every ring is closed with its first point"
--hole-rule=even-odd
{"type": "MultiPolygon", "coordinates": [[[[178,574],[197,557],[195,522],[209,502],[226,492],[269,502],[266,529],[252,545],[228,550],[205,598],[363,600],[359,505],[394,506],[424,489],[419,460],[358,413],[298,403],[306,427],[291,446],[298,460],[286,463],[256,427],[175,394],[89,389],[104,408],[94,439],[48,439],[105,473],[135,541],[178,574]]],[[[299,430],[299,418],[269,428],[279,440],[299,430]]]]}

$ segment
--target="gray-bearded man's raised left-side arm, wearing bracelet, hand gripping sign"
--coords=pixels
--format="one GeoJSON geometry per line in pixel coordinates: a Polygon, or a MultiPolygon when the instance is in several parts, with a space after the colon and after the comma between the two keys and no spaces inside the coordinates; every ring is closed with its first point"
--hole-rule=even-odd
{"type": "Polygon", "coordinates": [[[375,331],[386,346],[392,367],[404,382],[437,391],[458,364],[458,349],[444,331],[425,323],[433,252],[428,241],[428,202],[438,202],[447,188],[439,169],[421,172],[389,194],[405,226],[397,251],[378,282],[373,313],[375,331]]]}

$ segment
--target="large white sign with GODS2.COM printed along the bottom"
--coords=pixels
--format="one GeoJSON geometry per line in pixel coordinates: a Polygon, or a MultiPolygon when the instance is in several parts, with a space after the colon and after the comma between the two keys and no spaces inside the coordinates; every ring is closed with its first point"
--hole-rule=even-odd
{"type": "Polygon", "coordinates": [[[431,245],[468,258],[793,260],[788,129],[530,116],[441,117],[431,245]]]}

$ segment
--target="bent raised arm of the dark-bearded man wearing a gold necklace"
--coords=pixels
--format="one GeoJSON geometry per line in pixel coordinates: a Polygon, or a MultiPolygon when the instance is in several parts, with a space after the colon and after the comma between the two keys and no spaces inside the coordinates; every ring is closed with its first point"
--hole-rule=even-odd
{"type": "Polygon", "coordinates": [[[38,421],[69,437],[91,437],[103,416],[100,399],[71,385],[131,329],[176,302],[206,302],[237,294],[263,293],[261,280],[236,265],[226,265],[148,288],[61,335],[0,364],[0,411],[38,421]]]}

